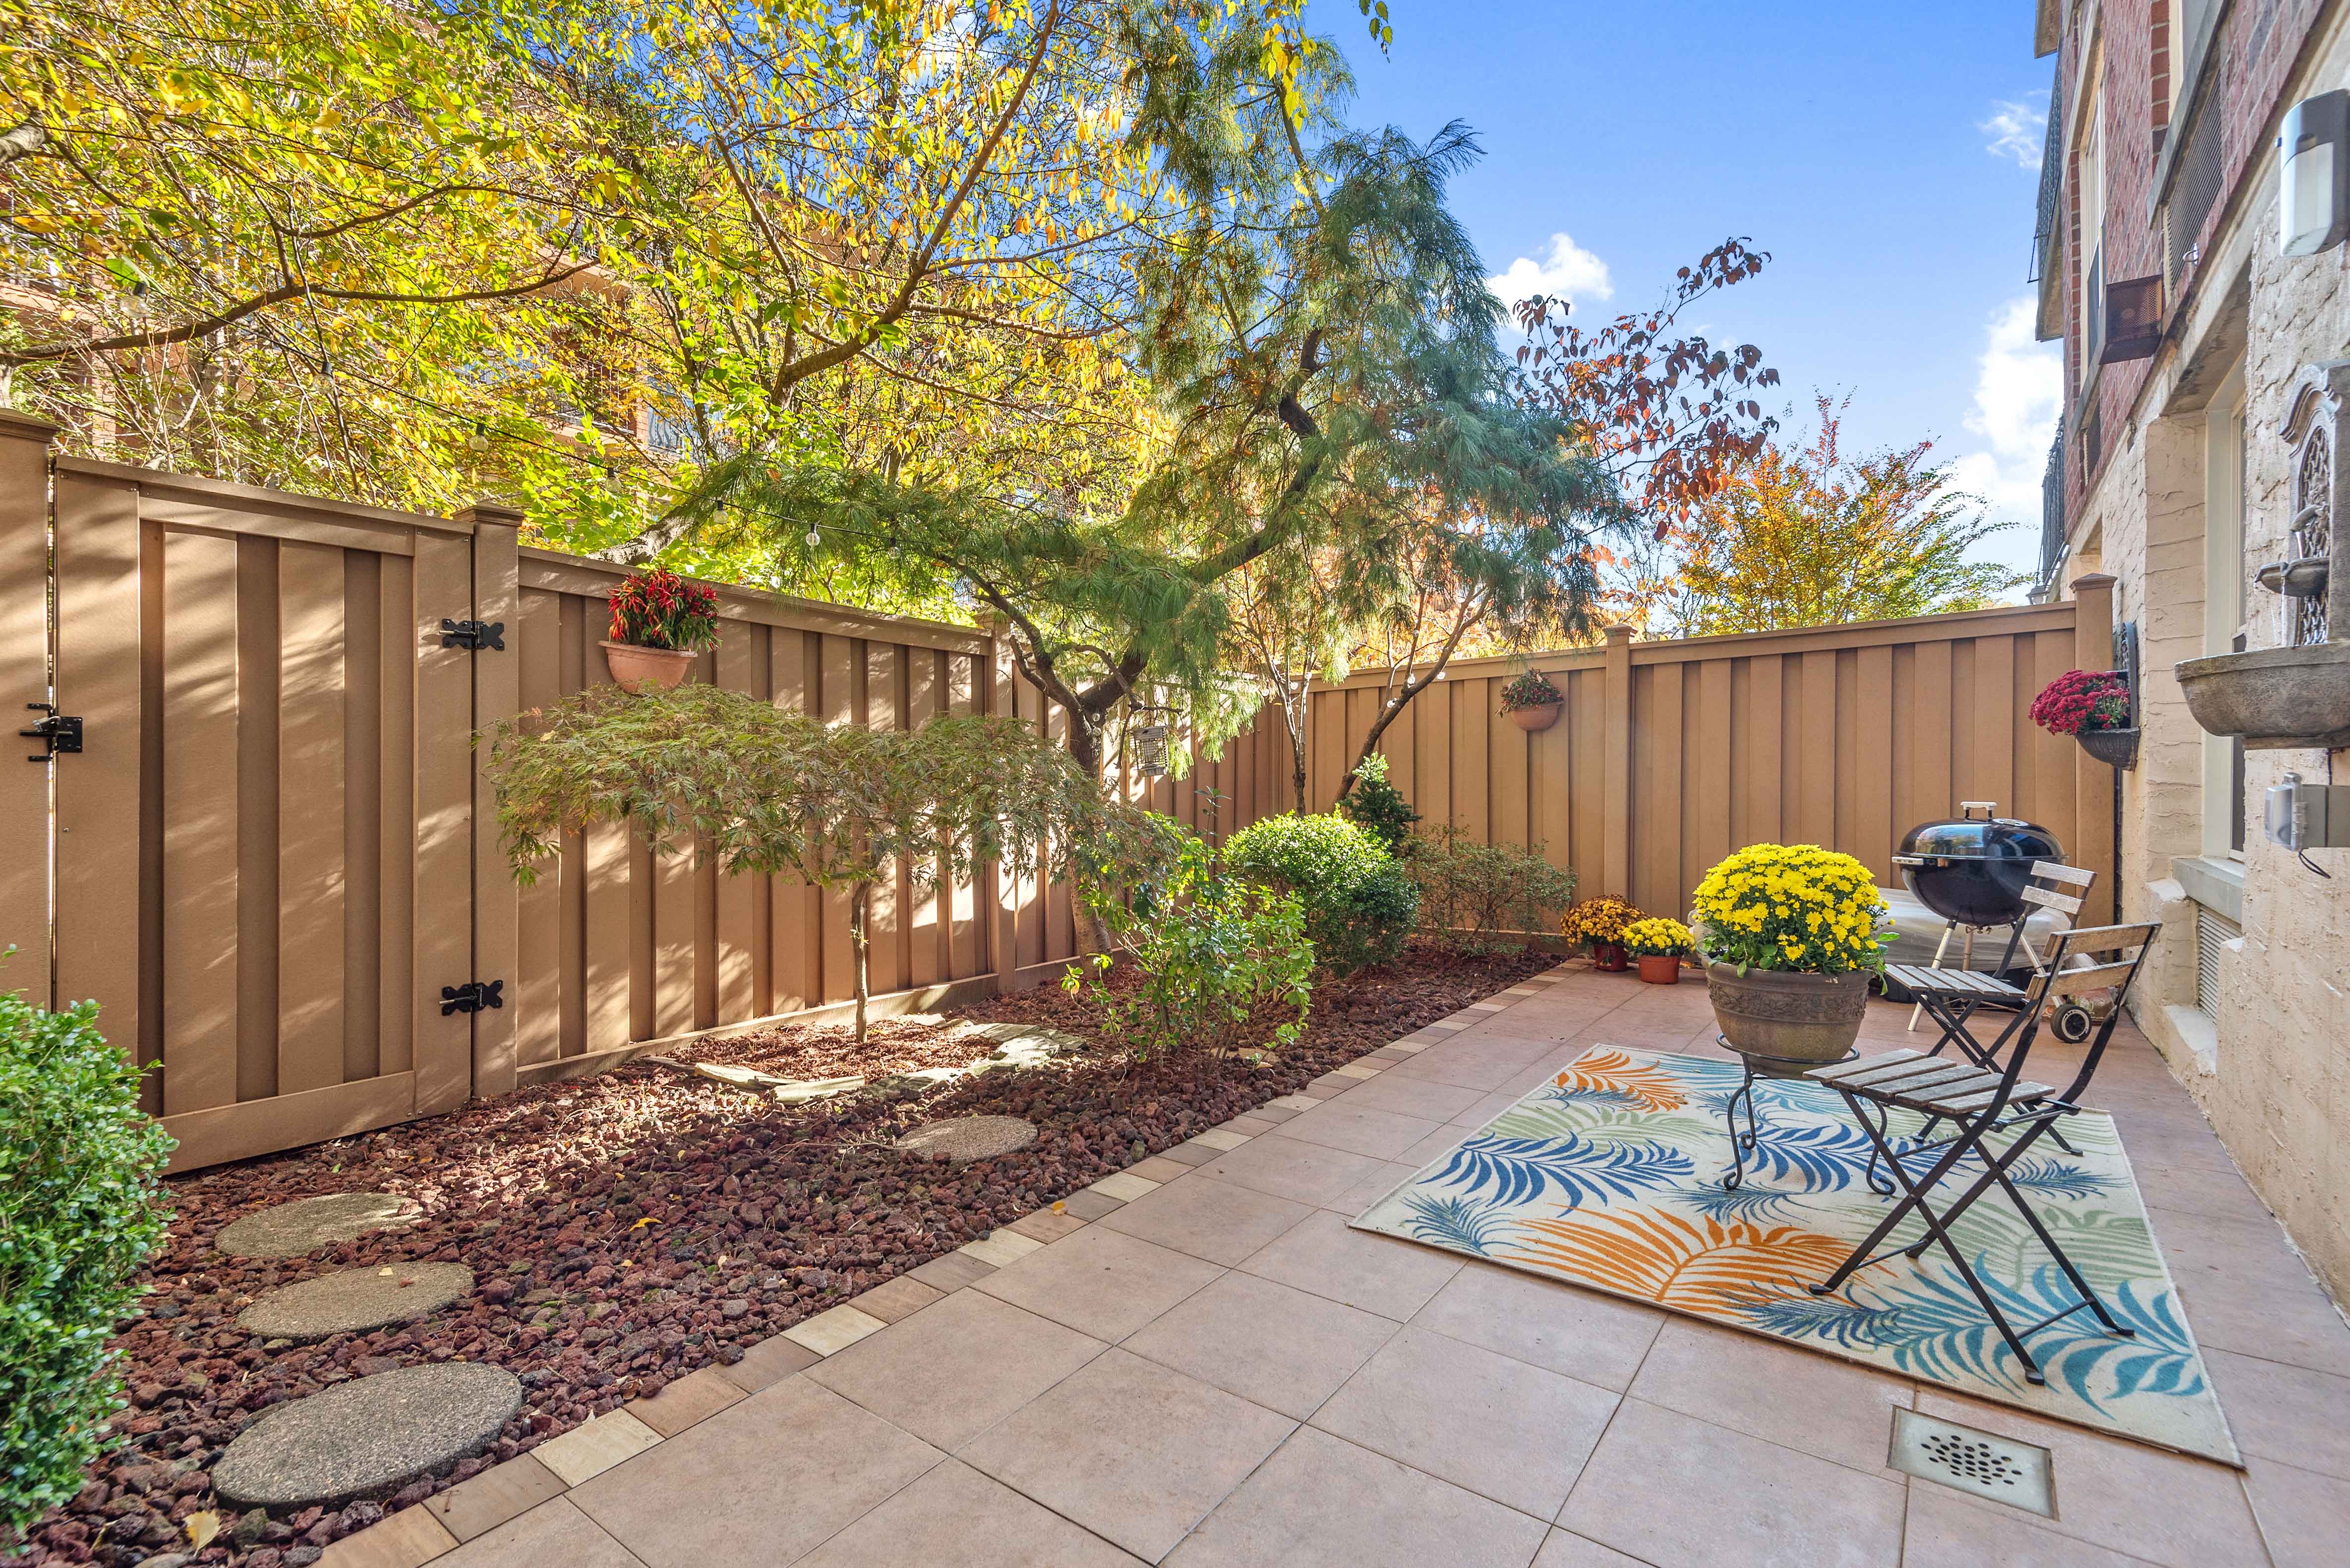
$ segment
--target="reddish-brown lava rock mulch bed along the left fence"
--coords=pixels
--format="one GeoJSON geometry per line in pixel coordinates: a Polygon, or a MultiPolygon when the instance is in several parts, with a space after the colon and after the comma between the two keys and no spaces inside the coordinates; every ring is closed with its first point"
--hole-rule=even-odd
{"type": "MultiPolygon", "coordinates": [[[[148,1310],[120,1338],[129,1441],[82,1493],[35,1526],[26,1561],[306,1568],[385,1509],[421,1502],[548,1437],[653,1394],[689,1371],[834,1307],[1034,1209],[1227,1122],[1457,1012],[1553,960],[1466,958],[1415,946],[1391,969],[1323,981],[1304,1038],[1262,1066],[1154,1063],[1114,1052],[996,1070],[942,1089],[874,1091],[780,1108],[630,1063],[465,1110],[172,1183],[179,1218],[150,1268],[148,1310]],[[888,1145],[919,1122],[1018,1115],[1034,1145],[959,1171],[888,1145]],[[266,1204],[383,1190],[421,1204],[416,1228],[308,1258],[223,1258],[212,1237],[266,1204]],[[237,1312],[261,1291],[336,1268],[465,1263],[472,1298],[407,1329],[263,1343],[237,1312]],[[496,1361],[524,1383],[496,1446],[385,1502],[233,1519],[207,1467],[254,1413],[348,1378],[423,1361],[496,1361]],[[181,1521],[221,1509],[190,1552],[181,1521]]],[[[1097,1009],[1046,986],[945,1021],[877,1021],[865,1052],[846,1026],[792,1023],[700,1042],[691,1054],[790,1077],[964,1066],[985,1045],[959,1021],[1048,1023],[1095,1035],[1097,1009]]]]}

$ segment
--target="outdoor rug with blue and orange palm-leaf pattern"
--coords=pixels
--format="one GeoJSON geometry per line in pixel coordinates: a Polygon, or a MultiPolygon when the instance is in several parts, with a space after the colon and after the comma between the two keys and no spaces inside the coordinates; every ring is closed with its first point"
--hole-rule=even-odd
{"type": "MultiPolygon", "coordinates": [[[[1365,1209],[1354,1225],[1530,1275],[1570,1279],[1906,1378],[2240,1465],[2202,1352],[2155,1244],[2113,1117],[2082,1113],[2012,1171],[2049,1232],[2136,1338],[2084,1310],[2026,1336],[2023,1368],[1939,1246],[1864,1268],[1812,1296],[1894,1199],[1868,1190],[1868,1138],[1824,1084],[1755,1084],[1760,1143],[1723,1185],[1734,1061],[1598,1047],[1365,1209]],[[2044,1153],[2042,1153],[2044,1150],[2044,1153]]],[[[1918,1131],[1918,1117],[1894,1131],[1918,1131]]],[[[1967,1160],[1960,1174],[1981,1174],[1967,1160]]],[[[1965,1185],[1972,1185],[1965,1183],[1965,1185]]],[[[1960,1185],[1958,1190],[1965,1190],[1960,1185]]],[[[1955,1197],[1948,1183],[1941,1197],[1955,1197]]],[[[1894,1239],[1920,1239],[1911,1216],[1894,1239]]],[[[1953,1225],[2014,1324],[2075,1300],[1998,1190],[1953,1225]]]]}

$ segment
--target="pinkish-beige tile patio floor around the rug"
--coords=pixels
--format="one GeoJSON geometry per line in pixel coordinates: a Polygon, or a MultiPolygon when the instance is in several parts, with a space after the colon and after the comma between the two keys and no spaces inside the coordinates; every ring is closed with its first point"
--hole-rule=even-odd
{"type": "Polygon", "coordinates": [[[1603,1042],[1716,1052],[1704,986],[1556,969],[327,1568],[2350,1563],[2350,1329],[2127,1028],[2094,1099],[2247,1472],[1347,1230],[1603,1042]],[[2052,1448],[2059,1516],[1889,1469],[1894,1406],[2052,1448]]]}

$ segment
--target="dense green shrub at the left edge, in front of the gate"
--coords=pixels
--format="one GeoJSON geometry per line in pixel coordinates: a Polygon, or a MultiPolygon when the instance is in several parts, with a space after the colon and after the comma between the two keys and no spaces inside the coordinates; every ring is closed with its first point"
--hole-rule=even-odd
{"type": "Polygon", "coordinates": [[[0,1542],[99,1455],[122,1408],[108,1340],[169,1221],[155,1178],[172,1138],[96,1016],[0,995],[0,1542]]]}

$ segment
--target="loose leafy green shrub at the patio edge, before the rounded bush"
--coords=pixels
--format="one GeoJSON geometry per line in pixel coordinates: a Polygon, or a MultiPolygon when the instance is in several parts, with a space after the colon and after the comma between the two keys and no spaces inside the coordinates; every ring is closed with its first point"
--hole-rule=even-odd
{"type": "Polygon", "coordinates": [[[1304,1028],[1314,991],[1314,946],[1304,913],[1285,892],[1222,876],[1208,845],[1184,836],[1175,866],[1133,908],[1104,918],[1133,946],[1142,984],[1114,991],[1109,953],[1072,967],[1062,986],[1090,993],[1102,1033],[1135,1061],[1288,1045],[1304,1028]]]}

